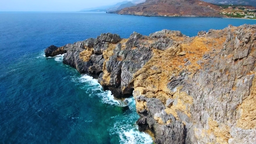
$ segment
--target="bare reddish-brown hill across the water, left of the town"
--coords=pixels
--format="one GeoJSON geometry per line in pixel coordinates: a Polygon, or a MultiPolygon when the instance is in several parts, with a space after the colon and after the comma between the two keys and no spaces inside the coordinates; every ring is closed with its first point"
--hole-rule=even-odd
{"type": "Polygon", "coordinates": [[[210,16],[220,17],[220,7],[199,0],[146,0],[135,7],[115,11],[140,16],[210,16]]]}

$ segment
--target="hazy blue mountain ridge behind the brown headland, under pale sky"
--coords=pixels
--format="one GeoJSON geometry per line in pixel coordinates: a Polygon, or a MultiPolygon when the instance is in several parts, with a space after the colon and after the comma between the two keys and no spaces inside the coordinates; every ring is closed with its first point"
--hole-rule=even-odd
{"type": "Polygon", "coordinates": [[[145,1],[146,0],[132,0],[132,1],[125,0],[120,3],[116,3],[115,5],[88,8],[88,9],[83,9],[81,11],[109,11],[109,12],[111,12],[111,11],[121,10],[125,7],[132,7],[138,3],[143,3],[145,1]]]}

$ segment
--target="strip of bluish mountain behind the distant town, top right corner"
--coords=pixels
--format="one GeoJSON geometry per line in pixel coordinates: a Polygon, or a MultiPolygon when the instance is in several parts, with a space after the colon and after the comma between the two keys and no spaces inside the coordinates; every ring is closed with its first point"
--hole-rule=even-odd
{"type": "Polygon", "coordinates": [[[215,4],[249,5],[256,7],[256,0],[203,0],[215,4]]]}

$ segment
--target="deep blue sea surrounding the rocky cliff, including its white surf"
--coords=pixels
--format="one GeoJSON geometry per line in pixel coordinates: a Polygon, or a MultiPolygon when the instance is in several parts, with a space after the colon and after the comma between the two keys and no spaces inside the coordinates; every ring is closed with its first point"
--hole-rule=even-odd
{"type": "Polygon", "coordinates": [[[187,36],[256,20],[144,17],[89,12],[0,12],[0,144],[152,144],[138,131],[135,100],[115,100],[97,80],[45,58],[101,33],[128,38],[162,29],[187,36]]]}

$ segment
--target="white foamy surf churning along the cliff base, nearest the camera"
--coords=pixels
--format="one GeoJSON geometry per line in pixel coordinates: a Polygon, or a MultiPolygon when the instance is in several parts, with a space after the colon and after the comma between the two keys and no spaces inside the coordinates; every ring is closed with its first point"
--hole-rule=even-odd
{"type": "Polygon", "coordinates": [[[85,84],[85,87],[82,88],[86,89],[86,93],[88,93],[89,96],[97,95],[101,98],[102,103],[120,107],[128,106],[129,110],[125,112],[125,115],[112,117],[117,121],[114,123],[114,126],[108,130],[111,135],[118,135],[121,144],[153,143],[148,134],[138,131],[138,125],[135,124],[135,121],[138,120],[139,116],[136,113],[135,99],[133,97],[125,98],[124,101],[116,100],[111,91],[103,91],[98,81],[89,75],[82,75],[79,78],[72,77],[72,81],[79,83],[79,85],[85,84]]]}

